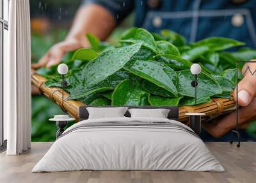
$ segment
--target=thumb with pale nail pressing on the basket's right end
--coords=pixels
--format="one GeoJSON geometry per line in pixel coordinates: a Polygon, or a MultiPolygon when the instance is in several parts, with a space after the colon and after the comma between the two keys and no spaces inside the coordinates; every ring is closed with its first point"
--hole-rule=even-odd
{"type": "MultiPolygon", "coordinates": [[[[254,72],[256,67],[250,67],[250,70],[254,72]]],[[[248,72],[248,71],[247,71],[248,72]]],[[[238,94],[235,95],[234,98],[236,99],[238,97],[238,104],[239,106],[248,106],[252,99],[256,97],[256,73],[252,75],[251,73],[247,73],[242,81],[240,81],[237,85],[238,94]]]]}

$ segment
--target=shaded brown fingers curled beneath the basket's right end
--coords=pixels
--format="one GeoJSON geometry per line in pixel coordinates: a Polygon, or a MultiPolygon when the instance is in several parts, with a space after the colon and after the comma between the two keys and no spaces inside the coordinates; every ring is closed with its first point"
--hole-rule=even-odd
{"type": "MultiPolygon", "coordinates": [[[[247,107],[240,107],[238,109],[238,125],[243,127],[244,124],[255,120],[256,118],[256,98],[253,98],[252,102],[247,107]]],[[[202,123],[205,131],[209,132],[212,136],[220,138],[227,132],[236,127],[236,111],[213,120],[211,123],[202,123]]]]}

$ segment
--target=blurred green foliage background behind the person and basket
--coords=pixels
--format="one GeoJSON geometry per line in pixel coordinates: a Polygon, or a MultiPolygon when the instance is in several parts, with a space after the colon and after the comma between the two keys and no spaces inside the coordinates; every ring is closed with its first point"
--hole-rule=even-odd
{"type": "MultiPolygon", "coordinates": [[[[51,47],[63,40],[71,26],[72,19],[79,8],[80,0],[31,0],[31,62],[35,63],[51,47]]],[[[110,42],[124,29],[132,26],[134,16],[129,16],[109,37],[110,42]]],[[[54,141],[56,139],[56,123],[49,122],[54,115],[64,112],[44,95],[32,95],[32,141],[54,141]]],[[[73,123],[69,123],[72,125],[73,123]]],[[[256,122],[247,128],[250,135],[256,138],[256,122]]]]}

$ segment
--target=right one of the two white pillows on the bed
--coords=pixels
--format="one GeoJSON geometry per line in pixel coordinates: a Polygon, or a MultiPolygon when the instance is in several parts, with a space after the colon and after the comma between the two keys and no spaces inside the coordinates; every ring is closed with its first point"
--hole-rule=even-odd
{"type": "Polygon", "coordinates": [[[170,109],[136,109],[128,110],[131,113],[131,118],[167,118],[170,109]]]}

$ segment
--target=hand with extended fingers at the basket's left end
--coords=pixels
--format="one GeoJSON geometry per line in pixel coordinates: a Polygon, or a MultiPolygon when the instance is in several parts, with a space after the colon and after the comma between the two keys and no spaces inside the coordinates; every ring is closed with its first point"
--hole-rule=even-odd
{"type": "Polygon", "coordinates": [[[57,65],[68,51],[88,47],[88,45],[85,36],[67,38],[63,42],[53,45],[38,63],[31,64],[31,68],[40,68],[43,66],[49,68],[53,65],[57,65]]]}

